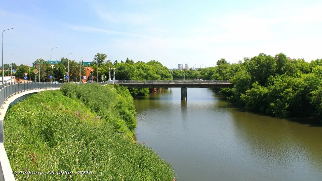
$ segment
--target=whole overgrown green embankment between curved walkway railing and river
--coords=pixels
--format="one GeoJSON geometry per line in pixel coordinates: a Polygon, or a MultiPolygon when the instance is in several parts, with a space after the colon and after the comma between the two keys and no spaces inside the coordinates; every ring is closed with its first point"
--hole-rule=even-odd
{"type": "Polygon", "coordinates": [[[171,165],[133,142],[136,126],[126,88],[64,85],[12,106],[5,117],[5,149],[17,180],[162,180],[171,165]],[[66,95],[66,96],[65,96],[66,95]],[[87,175],[50,175],[48,171],[93,171],[87,175]]]}

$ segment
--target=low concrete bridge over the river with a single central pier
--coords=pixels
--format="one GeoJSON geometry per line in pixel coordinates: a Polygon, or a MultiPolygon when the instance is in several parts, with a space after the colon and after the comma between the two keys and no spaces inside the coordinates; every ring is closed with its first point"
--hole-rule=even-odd
{"type": "Polygon", "coordinates": [[[227,81],[115,81],[115,84],[128,88],[181,88],[181,100],[187,100],[187,88],[223,88],[232,87],[227,81]]]}

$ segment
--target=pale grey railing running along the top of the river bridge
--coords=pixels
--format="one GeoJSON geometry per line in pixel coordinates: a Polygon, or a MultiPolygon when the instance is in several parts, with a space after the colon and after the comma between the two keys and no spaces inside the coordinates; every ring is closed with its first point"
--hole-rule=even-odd
{"type": "Polygon", "coordinates": [[[230,84],[229,80],[189,80],[189,81],[139,81],[139,80],[119,80],[116,84],[230,84]]]}

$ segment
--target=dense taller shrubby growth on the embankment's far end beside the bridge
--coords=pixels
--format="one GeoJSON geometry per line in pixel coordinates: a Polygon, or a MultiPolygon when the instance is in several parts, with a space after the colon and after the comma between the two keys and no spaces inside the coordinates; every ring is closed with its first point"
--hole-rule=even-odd
{"type": "Polygon", "coordinates": [[[116,131],[133,137],[136,112],[133,98],[126,88],[118,86],[115,89],[111,85],[99,84],[65,84],[61,90],[69,98],[80,100],[116,131]]]}

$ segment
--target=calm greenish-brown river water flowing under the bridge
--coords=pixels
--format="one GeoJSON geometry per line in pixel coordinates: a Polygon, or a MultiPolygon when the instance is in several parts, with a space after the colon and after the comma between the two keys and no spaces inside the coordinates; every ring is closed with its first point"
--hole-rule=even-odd
{"type": "Polygon", "coordinates": [[[321,181],[322,127],[234,108],[206,88],[134,99],[137,141],[171,163],[179,181],[321,181]]]}

